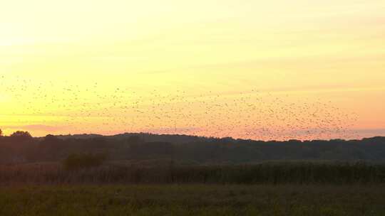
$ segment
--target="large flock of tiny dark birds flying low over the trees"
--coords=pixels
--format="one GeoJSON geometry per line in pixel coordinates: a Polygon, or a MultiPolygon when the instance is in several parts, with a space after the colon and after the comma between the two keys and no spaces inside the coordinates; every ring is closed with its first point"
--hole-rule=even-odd
{"type": "Polygon", "coordinates": [[[148,132],[256,140],[358,136],[351,130],[357,115],[332,102],[258,90],[163,92],[0,75],[0,94],[3,124],[12,119],[9,124],[21,129],[49,126],[52,134],[148,132]]]}

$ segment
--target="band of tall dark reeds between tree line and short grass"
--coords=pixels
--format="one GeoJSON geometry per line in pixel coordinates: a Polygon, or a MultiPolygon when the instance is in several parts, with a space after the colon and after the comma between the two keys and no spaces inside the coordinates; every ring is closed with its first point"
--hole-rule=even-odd
{"type": "Polygon", "coordinates": [[[0,183],[385,183],[385,166],[366,163],[261,163],[245,166],[134,166],[69,169],[58,163],[0,166],[0,183]]]}

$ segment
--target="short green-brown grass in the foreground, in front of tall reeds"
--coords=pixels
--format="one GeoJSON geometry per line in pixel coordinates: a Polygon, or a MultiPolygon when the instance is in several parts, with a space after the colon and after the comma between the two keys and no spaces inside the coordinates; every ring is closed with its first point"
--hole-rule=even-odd
{"type": "Polygon", "coordinates": [[[1,186],[0,215],[385,215],[385,185],[1,186]]]}

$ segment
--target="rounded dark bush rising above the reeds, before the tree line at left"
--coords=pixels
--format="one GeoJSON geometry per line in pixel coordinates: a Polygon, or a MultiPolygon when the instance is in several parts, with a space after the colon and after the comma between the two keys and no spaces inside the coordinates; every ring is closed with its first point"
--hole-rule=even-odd
{"type": "Polygon", "coordinates": [[[76,171],[101,166],[104,161],[106,154],[73,153],[63,161],[63,166],[66,170],[76,171]]]}

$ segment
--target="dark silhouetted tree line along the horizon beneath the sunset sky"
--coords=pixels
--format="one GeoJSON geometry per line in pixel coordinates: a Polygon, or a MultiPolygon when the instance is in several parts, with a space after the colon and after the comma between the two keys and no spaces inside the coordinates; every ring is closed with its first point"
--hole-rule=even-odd
{"type": "Polygon", "coordinates": [[[385,161],[385,137],[329,141],[253,141],[185,135],[119,134],[34,138],[27,131],[0,136],[0,163],[63,161],[79,153],[108,161],[174,161],[180,164],[246,164],[262,161],[385,161]]]}

